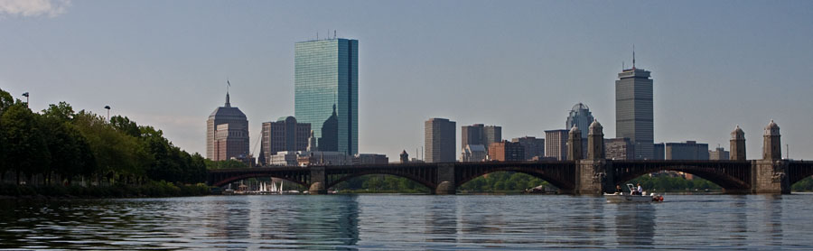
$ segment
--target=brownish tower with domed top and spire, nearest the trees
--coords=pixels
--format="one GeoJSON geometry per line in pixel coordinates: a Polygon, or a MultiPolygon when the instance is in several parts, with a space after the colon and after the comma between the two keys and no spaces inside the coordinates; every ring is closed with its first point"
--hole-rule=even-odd
{"type": "Polygon", "coordinates": [[[206,158],[225,161],[232,157],[248,157],[248,119],[238,107],[231,107],[227,91],[226,105],[216,108],[206,120],[206,158]]]}

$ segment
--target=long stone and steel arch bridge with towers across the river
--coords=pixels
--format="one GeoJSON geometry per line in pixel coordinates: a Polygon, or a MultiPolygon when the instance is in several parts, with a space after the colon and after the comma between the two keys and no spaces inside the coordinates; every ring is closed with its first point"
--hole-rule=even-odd
{"type": "MultiPolygon", "coordinates": [[[[326,193],[342,181],[369,174],[390,174],[416,181],[435,194],[454,194],[467,181],[491,172],[522,172],[548,181],[564,193],[601,194],[615,185],[641,175],[660,172],[687,172],[720,185],[731,193],[790,193],[790,185],[813,175],[813,162],[780,158],[779,126],[771,121],[765,128],[762,159],[745,160],[745,139],[737,127],[732,133],[731,160],[607,160],[603,154],[603,133],[593,122],[588,135],[588,153],[580,145],[568,145],[566,161],[479,162],[479,163],[389,163],[348,166],[264,167],[212,170],[209,184],[223,186],[248,178],[279,178],[309,188],[312,194],[326,193]]],[[[570,138],[580,139],[579,130],[570,138]]]]}

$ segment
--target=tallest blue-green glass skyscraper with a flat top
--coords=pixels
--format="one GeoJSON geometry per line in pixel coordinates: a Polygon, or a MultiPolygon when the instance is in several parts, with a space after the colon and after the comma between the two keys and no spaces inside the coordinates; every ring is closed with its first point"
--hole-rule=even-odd
{"type": "Polygon", "coordinates": [[[311,124],[320,138],[319,150],[359,153],[359,41],[333,38],[294,44],[294,116],[311,124]],[[336,150],[323,148],[321,142],[332,140],[333,135],[322,134],[334,130],[322,130],[322,125],[333,114],[336,150]]]}

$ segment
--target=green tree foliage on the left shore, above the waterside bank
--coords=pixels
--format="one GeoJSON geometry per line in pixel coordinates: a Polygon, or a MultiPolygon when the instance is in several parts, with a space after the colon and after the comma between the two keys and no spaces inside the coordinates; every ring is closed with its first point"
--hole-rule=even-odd
{"type": "Polygon", "coordinates": [[[38,175],[44,178],[38,181],[51,185],[77,178],[120,185],[194,184],[205,181],[209,166],[246,167],[182,151],[161,130],[137,125],[126,116],[113,116],[108,122],[104,116],[75,112],[65,102],[33,113],[0,89],[0,175],[38,175]]]}

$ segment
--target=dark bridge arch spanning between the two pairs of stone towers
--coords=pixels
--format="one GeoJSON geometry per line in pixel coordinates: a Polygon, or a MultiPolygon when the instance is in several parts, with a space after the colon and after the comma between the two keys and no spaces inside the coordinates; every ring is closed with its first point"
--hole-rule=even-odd
{"type": "Polygon", "coordinates": [[[724,169],[719,166],[699,164],[664,164],[616,168],[615,185],[626,183],[648,173],[661,171],[686,172],[696,175],[706,181],[715,183],[726,191],[747,191],[751,189],[751,172],[744,166],[739,169],[731,167],[724,169]]]}

